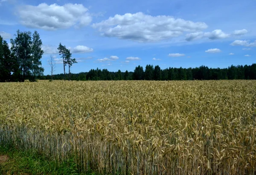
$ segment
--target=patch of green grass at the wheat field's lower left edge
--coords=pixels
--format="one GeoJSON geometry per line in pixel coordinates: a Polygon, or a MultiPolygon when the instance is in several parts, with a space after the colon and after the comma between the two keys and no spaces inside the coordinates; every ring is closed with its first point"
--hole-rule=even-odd
{"type": "MultiPolygon", "coordinates": [[[[57,164],[44,155],[33,151],[17,150],[10,145],[0,144],[0,155],[8,155],[9,160],[0,164],[0,175],[79,175],[73,159],[57,164]]],[[[93,175],[87,171],[83,175],[93,175]]]]}

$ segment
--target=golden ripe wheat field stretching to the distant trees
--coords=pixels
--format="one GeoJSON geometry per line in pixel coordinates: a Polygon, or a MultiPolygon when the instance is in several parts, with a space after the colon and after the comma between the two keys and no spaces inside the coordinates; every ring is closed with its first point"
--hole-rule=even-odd
{"type": "Polygon", "coordinates": [[[256,80],[0,83],[0,143],[81,172],[256,173],[256,80]]]}

